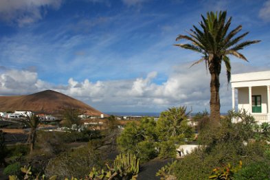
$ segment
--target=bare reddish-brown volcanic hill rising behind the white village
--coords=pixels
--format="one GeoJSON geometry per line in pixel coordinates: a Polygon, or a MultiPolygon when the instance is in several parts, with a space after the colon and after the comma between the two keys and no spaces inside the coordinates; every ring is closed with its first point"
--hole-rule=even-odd
{"type": "Polygon", "coordinates": [[[34,111],[59,114],[63,109],[79,109],[87,115],[100,116],[102,114],[79,100],[52,90],[30,95],[0,96],[0,111],[34,111]]]}

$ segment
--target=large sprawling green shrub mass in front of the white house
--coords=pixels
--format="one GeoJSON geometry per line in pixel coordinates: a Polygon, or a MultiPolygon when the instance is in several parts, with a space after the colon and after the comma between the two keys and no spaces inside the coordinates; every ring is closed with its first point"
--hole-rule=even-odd
{"type": "MultiPolygon", "coordinates": [[[[265,140],[252,140],[256,135],[254,123],[254,118],[245,112],[229,112],[219,126],[206,124],[199,133],[199,142],[205,148],[199,148],[177,161],[171,167],[173,174],[177,179],[208,179],[216,167],[223,167],[216,170],[218,176],[226,176],[227,170],[234,170],[239,161],[243,161],[245,166],[260,161],[268,163],[269,144],[265,140]],[[235,120],[236,117],[242,121],[232,123],[232,118],[235,120]],[[231,168],[224,167],[224,164],[231,164],[231,168]]],[[[232,173],[228,173],[232,177],[232,173]]]]}

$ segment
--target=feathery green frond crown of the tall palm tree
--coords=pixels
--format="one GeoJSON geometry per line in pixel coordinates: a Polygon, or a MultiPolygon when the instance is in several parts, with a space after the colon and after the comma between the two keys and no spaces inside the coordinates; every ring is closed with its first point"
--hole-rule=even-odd
{"type": "MultiPolygon", "coordinates": [[[[238,50],[260,41],[245,41],[240,43],[240,41],[247,36],[248,32],[236,37],[236,34],[242,30],[241,25],[236,27],[231,32],[228,32],[232,17],[226,21],[226,16],[226,11],[220,11],[219,13],[207,12],[206,17],[201,15],[203,19],[203,21],[199,23],[201,30],[193,25],[194,30],[190,30],[190,36],[180,34],[176,40],[179,41],[184,39],[190,41],[189,44],[177,44],[177,46],[201,53],[203,58],[194,64],[205,61],[205,64],[208,65],[210,72],[212,63],[221,64],[223,61],[227,69],[227,80],[229,82],[231,65],[228,55],[247,60],[243,54],[238,52],[238,50]]],[[[220,69],[217,69],[217,67],[213,70],[220,71],[220,69]]]]}

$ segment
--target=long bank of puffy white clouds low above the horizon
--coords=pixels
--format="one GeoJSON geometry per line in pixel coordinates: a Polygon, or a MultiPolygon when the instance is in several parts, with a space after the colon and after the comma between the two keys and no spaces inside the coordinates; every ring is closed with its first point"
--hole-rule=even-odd
{"type": "MultiPolygon", "coordinates": [[[[134,80],[78,82],[69,78],[67,85],[52,85],[38,79],[32,71],[3,69],[0,74],[1,95],[30,94],[52,89],[86,102],[101,111],[163,111],[170,106],[185,105],[193,110],[209,109],[210,74],[203,64],[188,68],[179,65],[172,69],[166,82],[156,83],[157,72],[134,80]]],[[[233,64],[234,74],[255,71],[254,67],[233,64]]],[[[262,69],[260,69],[262,70],[262,69]]],[[[221,111],[231,108],[231,89],[227,85],[225,69],[221,73],[221,111]]]]}

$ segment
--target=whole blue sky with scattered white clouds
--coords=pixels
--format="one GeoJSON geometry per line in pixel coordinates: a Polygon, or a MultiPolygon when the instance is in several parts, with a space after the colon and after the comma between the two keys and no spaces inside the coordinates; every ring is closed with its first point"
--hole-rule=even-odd
{"type": "MultiPolygon", "coordinates": [[[[261,40],[230,56],[232,74],[270,70],[270,1],[0,0],[0,95],[52,89],[103,112],[209,111],[201,54],[174,44],[201,14],[227,10],[233,30],[261,40]]],[[[182,41],[184,43],[185,41],[182,41]]],[[[221,112],[232,90],[221,72],[221,112]]]]}

